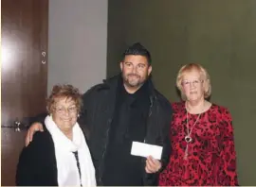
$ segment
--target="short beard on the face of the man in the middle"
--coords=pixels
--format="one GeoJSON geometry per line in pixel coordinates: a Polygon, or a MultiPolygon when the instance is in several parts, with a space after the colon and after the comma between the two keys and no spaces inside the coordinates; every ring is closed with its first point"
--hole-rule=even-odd
{"type": "Polygon", "coordinates": [[[142,79],[141,76],[138,76],[137,74],[128,74],[127,76],[122,74],[122,79],[125,85],[136,88],[144,84],[144,82],[148,79],[148,76],[146,76],[145,79],[142,79]]]}

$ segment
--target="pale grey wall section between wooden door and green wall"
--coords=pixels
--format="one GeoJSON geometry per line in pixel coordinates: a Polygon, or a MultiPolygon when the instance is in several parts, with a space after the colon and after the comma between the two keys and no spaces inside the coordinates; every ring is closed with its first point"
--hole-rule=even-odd
{"type": "Polygon", "coordinates": [[[48,93],[57,83],[85,92],[106,77],[106,0],[49,0],[48,93]]]}

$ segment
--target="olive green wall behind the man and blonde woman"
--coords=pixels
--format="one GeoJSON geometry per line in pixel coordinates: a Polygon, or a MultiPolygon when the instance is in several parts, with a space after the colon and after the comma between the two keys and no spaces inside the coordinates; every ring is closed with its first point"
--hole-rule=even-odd
{"type": "Polygon", "coordinates": [[[108,51],[112,53],[108,53],[107,76],[119,72],[121,50],[142,42],[153,56],[156,87],[177,101],[174,82],[180,66],[203,64],[211,76],[211,101],[228,107],[233,117],[240,184],[256,185],[256,1],[115,2],[109,0],[108,51]]]}

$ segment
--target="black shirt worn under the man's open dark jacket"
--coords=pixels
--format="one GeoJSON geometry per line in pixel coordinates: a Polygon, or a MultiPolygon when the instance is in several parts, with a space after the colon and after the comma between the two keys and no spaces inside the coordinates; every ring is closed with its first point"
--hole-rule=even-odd
{"type": "Polygon", "coordinates": [[[144,142],[150,107],[147,83],[127,93],[119,80],[116,109],[110,128],[102,182],[107,186],[143,185],[141,157],[131,155],[133,141],[144,142]]]}

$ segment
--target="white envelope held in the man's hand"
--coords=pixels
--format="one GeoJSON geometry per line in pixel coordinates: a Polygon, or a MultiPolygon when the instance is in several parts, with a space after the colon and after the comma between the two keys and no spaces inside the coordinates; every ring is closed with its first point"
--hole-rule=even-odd
{"type": "Polygon", "coordinates": [[[162,146],[155,144],[133,142],[131,155],[140,157],[152,156],[154,159],[160,160],[162,156],[162,149],[162,146]]]}

